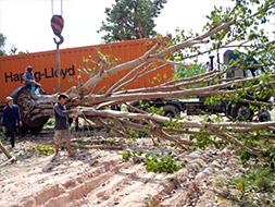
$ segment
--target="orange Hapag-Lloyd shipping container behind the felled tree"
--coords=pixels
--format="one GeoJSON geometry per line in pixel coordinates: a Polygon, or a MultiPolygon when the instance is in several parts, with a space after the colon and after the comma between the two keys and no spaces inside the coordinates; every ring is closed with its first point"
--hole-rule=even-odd
{"type": "MultiPolygon", "coordinates": [[[[157,38],[151,38],[61,49],[61,92],[65,92],[72,86],[77,85],[78,74],[82,75],[84,82],[88,80],[89,76],[82,72],[83,60],[86,58],[97,60],[97,48],[103,54],[111,54],[114,58],[121,59],[121,63],[124,63],[142,56],[157,41],[157,38]]],[[[47,94],[55,94],[58,92],[57,52],[54,50],[0,57],[0,106],[4,105],[4,98],[7,96],[10,96],[13,90],[24,85],[24,73],[27,65],[34,68],[35,78],[41,84],[42,89],[47,94]]],[[[108,89],[127,74],[129,70],[102,81],[97,89],[104,86],[108,89]]],[[[133,82],[127,88],[148,87],[161,84],[166,81],[163,78],[164,76],[170,78],[173,73],[173,66],[165,66],[146,77],[133,82]],[[157,77],[159,81],[153,82],[157,77]]]]}

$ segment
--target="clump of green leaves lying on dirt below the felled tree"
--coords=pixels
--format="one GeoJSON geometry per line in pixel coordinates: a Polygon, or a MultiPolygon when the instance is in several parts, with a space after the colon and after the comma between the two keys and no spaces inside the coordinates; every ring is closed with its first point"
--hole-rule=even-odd
{"type": "MultiPolygon", "coordinates": [[[[127,150],[122,154],[122,158],[124,160],[128,160],[130,157],[134,157],[135,155],[141,156],[142,151],[127,150]]],[[[172,151],[170,151],[168,155],[166,156],[162,153],[162,155],[157,154],[155,156],[152,154],[146,154],[145,157],[146,159],[137,157],[136,161],[138,163],[146,165],[146,169],[148,172],[173,173],[187,166],[187,161],[180,162],[180,158],[178,158],[176,155],[173,155],[172,151]]]]}

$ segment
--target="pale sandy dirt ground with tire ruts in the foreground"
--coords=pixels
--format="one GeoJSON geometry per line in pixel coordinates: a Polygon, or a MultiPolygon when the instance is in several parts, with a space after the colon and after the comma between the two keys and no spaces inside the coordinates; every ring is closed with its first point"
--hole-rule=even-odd
{"type": "MultiPolygon", "coordinates": [[[[52,136],[53,130],[47,129],[38,136],[17,141],[15,149],[10,149],[17,161],[0,168],[0,207],[242,206],[236,187],[226,185],[226,178],[246,171],[230,147],[184,151],[157,147],[150,138],[133,142],[86,131],[74,132],[76,157],[70,158],[62,149],[52,161],[52,148],[41,149],[53,144],[52,136]],[[122,148],[79,147],[83,145],[122,148]],[[143,165],[122,159],[127,150],[173,151],[188,165],[174,173],[148,172],[143,165]]],[[[0,162],[4,160],[0,153],[0,162]]],[[[274,198],[266,196],[274,204],[274,198]]]]}

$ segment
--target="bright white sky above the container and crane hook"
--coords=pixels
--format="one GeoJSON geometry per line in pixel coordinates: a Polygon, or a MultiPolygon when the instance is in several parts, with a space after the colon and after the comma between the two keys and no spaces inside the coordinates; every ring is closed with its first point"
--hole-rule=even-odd
{"type": "MultiPolygon", "coordinates": [[[[64,28],[63,48],[102,44],[98,34],[105,20],[105,8],[115,0],[63,0],[64,28]]],[[[175,34],[177,27],[201,32],[214,5],[232,5],[232,0],[167,0],[155,19],[158,33],[175,34]]],[[[16,47],[18,51],[54,50],[52,14],[61,14],[61,0],[0,0],[0,33],[7,37],[5,49],[16,47]],[[53,2],[53,7],[52,7],[53,2]]]]}

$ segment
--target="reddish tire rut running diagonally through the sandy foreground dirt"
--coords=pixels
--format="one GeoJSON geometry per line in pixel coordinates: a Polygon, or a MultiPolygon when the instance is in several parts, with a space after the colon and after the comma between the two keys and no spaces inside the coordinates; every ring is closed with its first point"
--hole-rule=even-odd
{"type": "MultiPolygon", "coordinates": [[[[58,183],[48,190],[38,192],[37,195],[32,196],[27,202],[27,206],[64,206],[72,203],[72,200],[82,198],[88,192],[100,186],[102,182],[113,176],[120,169],[129,166],[130,163],[122,162],[121,160],[110,160],[103,162],[90,171],[71,174],[66,176],[65,183],[58,183]],[[120,163],[121,162],[121,163],[120,163]],[[52,192],[55,192],[52,194],[52,192]]],[[[62,180],[62,178],[59,178],[62,180]]]]}

